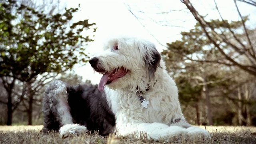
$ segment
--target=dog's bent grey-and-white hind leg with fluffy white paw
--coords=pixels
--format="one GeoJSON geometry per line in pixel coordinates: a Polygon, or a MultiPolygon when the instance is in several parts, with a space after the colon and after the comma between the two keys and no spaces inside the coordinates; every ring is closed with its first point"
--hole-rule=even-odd
{"type": "Polygon", "coordinates": [[[58,124],[60,137],[66,137],[69,134],[80,134],[87,130],[86,126],[80,126],[73,123],[73,118],[68,105],[68,92],[66,84],[60,80],[54,80],[46,89],[44,104],[44,128],[43,132],[51,130],[49,124],[58,124]],[[49,118],[50,117],[50,118],[49,118]]]}

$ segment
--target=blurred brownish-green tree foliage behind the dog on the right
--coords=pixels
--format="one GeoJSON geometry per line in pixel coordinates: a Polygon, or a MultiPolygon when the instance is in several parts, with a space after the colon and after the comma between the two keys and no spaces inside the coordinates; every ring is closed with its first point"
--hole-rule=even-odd
{"type": "MultiPolygon", "coordinates": [[[[243,19],[246,21],[248,17],[243,17],[243,19]]],[[[225,54],[236,62],[241,62],[244,66],[250,66],[250,60],[246,60],[247,57],[243,55],[245,52],[242,52],[241,48],[246,44],[242,22],[210,20],[206,23],[206,31],[225,54]]],[[[250,32],[249,29],[248,32],[250,32]]],[[[208,122],[212,119],[214,120],[213,124],[216,125],[236,125],[237,123],[234,121],[237,120],[234,119],[238,119],[237,108],[243,112],[244,119],[247,118],[247,115],[255,115],[252,110],[255,107],[254,94],[250,94],[250,100],[245,96],[246,91],[253,93],[254,89],[242,89],[246,84],[252,85],[250,82],[255,78],[243,75],[243,71],[228,60],[212,43],[212,40],[209,40],[199,23],[188,32],[181,32],[181,35],[181,40],[167,43],[168,49],[163,50],[162,56],[166,61],[168,72],[175,78],[179,88],[180,102],[185,106],[184,110],[191,107],[196,108],[197,112],[194,112],[196,116],[192,121],[199,122],[201,120],[200,124],[202,124],[203,120],[200,119],[200,114],[209,116],[211,112],[212,114],[215,112],[217,114],[213,114],[212,118],[207,117],[208,122]],[[241,88],[242,95],[244,95],[240,100],[237,88],[241,88]],[[240,107],[239,102],[242,105],[240,107]],[[219,108],[220,104],[223,104],[224,108],[219,108]],[[203,108],[197,109],[197,106],[203,108]],[[246,106],[250,110],[246,111],[246,106]],[[205,108],[208,111],[202,110],[205,108]],[[227,112],[226,109],[230,111],[227,112]]],[[[193,118],[191,109],[188,110],[188,113],[190,118],[193,118]]],[[[186,115],[186,111],[184,114],[186,115]]]]}

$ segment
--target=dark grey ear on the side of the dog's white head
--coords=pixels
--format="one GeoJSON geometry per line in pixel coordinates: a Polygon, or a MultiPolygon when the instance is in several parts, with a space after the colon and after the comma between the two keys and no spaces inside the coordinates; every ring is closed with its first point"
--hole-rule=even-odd
{"type": "Polygon", "coordinates": [[[153,44],[144,45],[144,48],[146,53],[143,60],[146,64],[149,79],[152,80],[155,76],[156,69],[160,67],[161,55],[153,44]]]}

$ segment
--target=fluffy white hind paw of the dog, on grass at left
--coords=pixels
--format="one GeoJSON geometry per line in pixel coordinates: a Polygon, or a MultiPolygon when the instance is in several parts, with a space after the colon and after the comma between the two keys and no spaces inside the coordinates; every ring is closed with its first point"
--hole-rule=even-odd
{"type": "Polygon", "coordinates": [[[80,126],[79,124],[66,124],[62,127],[60,127],[60,137],[66,138],[69,135],[79,135],[82,132],[86,132],[87,128],[86,126],[80,126]]]}

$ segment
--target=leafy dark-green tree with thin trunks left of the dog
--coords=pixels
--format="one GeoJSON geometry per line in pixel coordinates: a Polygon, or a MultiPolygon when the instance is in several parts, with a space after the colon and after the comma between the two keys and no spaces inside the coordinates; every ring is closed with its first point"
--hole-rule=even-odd
{"type": "Polygon", "coordinates": [[[88,60],[84,50],[92,39],[80,33],[95,23],[82,20],[70,24],[77,11],[78,8],[70,8],[48,16],[12,0],[0,4],[0,78],[8,94],[7,125],[12,124],[16,81],[27,84],[24,92],[32,102],[36,89],[30,86],[38,76],[65,72],[88,60]]]}

